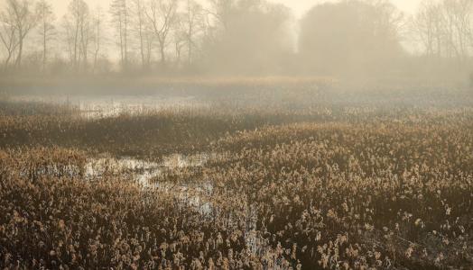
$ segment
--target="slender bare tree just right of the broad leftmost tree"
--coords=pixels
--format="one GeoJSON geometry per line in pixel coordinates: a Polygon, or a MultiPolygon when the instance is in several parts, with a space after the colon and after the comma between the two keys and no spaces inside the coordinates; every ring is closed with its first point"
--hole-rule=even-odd
{"type": "Polygon", "coordinates": [[[55,20],[55,15],[52,12],[51,4],[46,0],[40,0],[37,5],[37,13],[40,22],[40,34],[42,37],[42,70],[46,69],[46,63],[48,60],[48,46],[54,35],[54,25],[52,24],[55,20]]]}

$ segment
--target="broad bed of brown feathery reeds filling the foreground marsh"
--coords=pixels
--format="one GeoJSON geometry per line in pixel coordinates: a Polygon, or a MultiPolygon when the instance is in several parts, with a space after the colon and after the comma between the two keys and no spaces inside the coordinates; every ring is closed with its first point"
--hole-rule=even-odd
{"type": "Polygon", "coordinates": [[[471,268],[470,96],[304,95],[93,120],[3,103],[0,267],[471,268]],[[213,155],[144,185],[89,175],[106,151],[213,155]]]}

